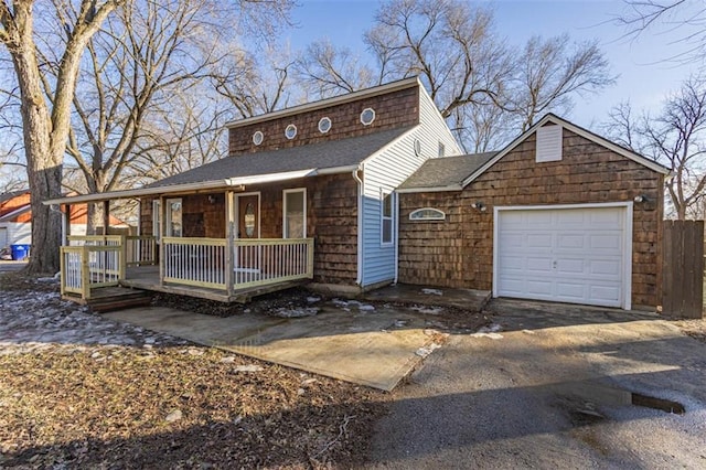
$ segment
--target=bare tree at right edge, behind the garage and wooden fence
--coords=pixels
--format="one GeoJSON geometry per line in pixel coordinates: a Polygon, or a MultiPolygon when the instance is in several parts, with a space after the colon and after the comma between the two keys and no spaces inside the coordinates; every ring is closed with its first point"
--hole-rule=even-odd
{"type": "Polygon", "coordinates": [[[605,126],[617,141],[646,154],[672,170],[666,191],[674,216],[685,220],[702,215],[706,188],[706,81],[689,78],[668,96],[654,118],[633,117],[622,104],[605,126]]]}

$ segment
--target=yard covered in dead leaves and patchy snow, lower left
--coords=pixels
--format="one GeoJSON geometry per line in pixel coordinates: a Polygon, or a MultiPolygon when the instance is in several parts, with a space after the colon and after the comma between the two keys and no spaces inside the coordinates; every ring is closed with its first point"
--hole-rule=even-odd
{"type": "Polygon", "coordinates": [[[0,468],[349,468],[367,453],[383,393],[113,323],[56,288],[0,278],[0,468]]]}

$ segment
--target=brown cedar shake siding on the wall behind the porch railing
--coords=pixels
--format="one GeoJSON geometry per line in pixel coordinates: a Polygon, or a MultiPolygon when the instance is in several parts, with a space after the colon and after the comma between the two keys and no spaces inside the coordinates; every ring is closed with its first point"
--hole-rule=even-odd
{"type": "MultiPolygon", "coordinates": [[[[354,285],[357,276],[357,185],[350,173],[252,185],[260,193],[260,237],[282,237],[282,191],[307,189],[307,237],[314,238],[314,281],[354,285]]],[[[235,193],[236,195],[238,193],[235,193]]],[[[225,237],[225,195],[182,195],[185,237],[225,237]],[[208,196],[215,197],[214,203],[208,196]]],[[[142,200],[141,227],[152,235],[152,200],[142,200]]]]}

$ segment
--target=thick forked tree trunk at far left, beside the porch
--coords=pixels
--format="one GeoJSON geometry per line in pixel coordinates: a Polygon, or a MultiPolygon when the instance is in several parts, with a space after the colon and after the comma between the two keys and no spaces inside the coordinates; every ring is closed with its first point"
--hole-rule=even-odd
{"type": "MultiPolygon", "coordinates": [[[[24,156],[32,194],[33,256],[28,269],[54,273],[58,269],[61,217],[42,201],[61,195],[62,164],[68,138],[71,104],[76,88],[81,58],[90,38],[121,0],[54,0],[54,21],[66,32],[66,43],[54,64],[56,77],[50,98],[45,99],[46,79],[35,41],[35,1],[0,2],[0,43],[12,57],[20,97],[24,137],[24,156]],[[72,20],[73,19],[73,20],[72,20]]],[[[43,13],[51,11],[42,6],[43,13]]]]}

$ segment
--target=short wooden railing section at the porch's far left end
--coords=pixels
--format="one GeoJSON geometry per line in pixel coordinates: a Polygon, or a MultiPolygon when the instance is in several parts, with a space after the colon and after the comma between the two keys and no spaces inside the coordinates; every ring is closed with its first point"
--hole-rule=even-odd
{"type": "Polygon", "coordinates": [[[115,245],[62,246],[61,292],[89,299],[92,289],[117,286],[125,278],[122,247],[115,245]]]}

